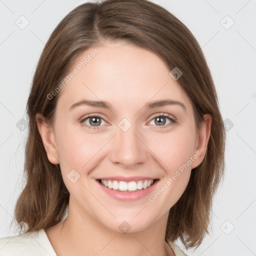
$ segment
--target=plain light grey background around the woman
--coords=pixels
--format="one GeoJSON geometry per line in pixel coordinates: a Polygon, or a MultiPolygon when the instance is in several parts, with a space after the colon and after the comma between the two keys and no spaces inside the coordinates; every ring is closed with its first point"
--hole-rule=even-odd
{"type": "MultiPolygon", "coordinates": [[[[83,2],[0,0],[0,237],[17,234],[13,210],[23,187],[27,136],[19,121],[26,120],[36,63],[58,22],[83,2]]],[[[256,1],[153,2],[179,18],[198,40],[227,128],[225,177],[215,196],[210,233],[195,252],[180,246],[188,255],[255,255],[256,1]]]]}

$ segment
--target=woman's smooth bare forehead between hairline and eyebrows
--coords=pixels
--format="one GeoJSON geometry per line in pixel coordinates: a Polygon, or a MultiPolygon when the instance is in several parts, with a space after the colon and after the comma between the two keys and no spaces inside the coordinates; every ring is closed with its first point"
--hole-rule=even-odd
{"type": "Polygon", "coordinates": [[[189,98],[169,75],[163,60],[147,49],[125,42],[88,48],[75,59],[71,72],[74,75],[59,95],[57,104],[61,108],[84,98],[110,101],[113,107],[168,98],[189,107],[189,98]]]}

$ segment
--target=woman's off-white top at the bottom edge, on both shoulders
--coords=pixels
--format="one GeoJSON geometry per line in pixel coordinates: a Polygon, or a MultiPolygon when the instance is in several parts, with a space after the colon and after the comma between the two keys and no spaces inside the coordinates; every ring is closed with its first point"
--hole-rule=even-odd
{"type": "MultiPolygon", "coordinates": [[[[175,256],[187,256],[169,242],[175,256]]],[[[44,229],[0,238],[0,256],[57,256],[44,229]]]]}

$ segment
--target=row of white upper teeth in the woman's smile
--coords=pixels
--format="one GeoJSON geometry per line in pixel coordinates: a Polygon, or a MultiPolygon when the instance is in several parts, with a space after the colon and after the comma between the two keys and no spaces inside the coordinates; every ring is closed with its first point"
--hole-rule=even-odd
{"type": "Polygon", "coordinates": [[[136,191],[140,189],[145,189],[149,187],[153,183],[153,179],[145,179],[139,181],[117,181],[117,180],[100,180],[100,183],[108,188],[112,188],[114,190],[119,191],[136,191]]]}

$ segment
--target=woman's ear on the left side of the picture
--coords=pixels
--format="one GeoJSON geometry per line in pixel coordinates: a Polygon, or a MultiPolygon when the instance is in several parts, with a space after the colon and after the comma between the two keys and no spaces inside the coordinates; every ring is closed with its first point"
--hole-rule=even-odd
{"type": "Polygon", "coordinates": [[[57,147],[52,127],[47,124],[45,117],[41,113],[36,113],[35,119],[48,160],[53,164],[58,164],[57,147]]]}

